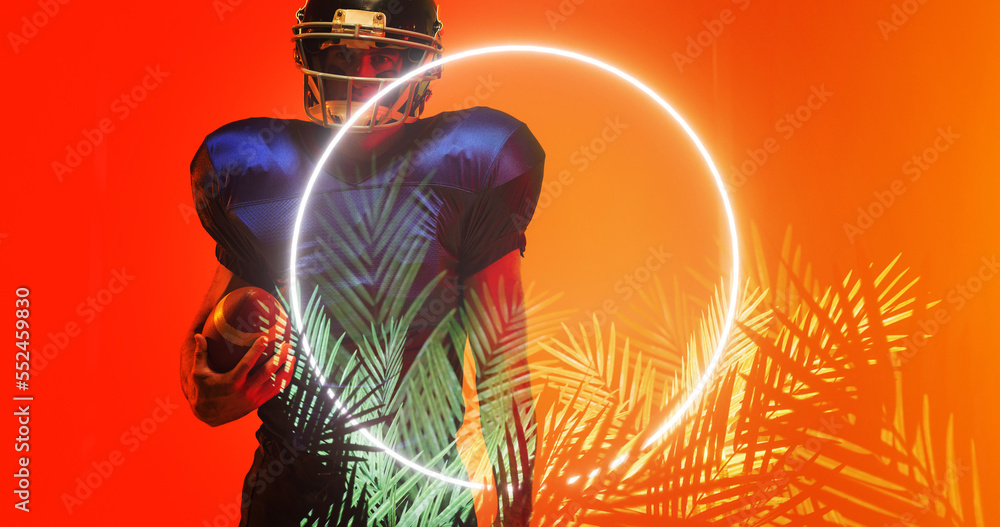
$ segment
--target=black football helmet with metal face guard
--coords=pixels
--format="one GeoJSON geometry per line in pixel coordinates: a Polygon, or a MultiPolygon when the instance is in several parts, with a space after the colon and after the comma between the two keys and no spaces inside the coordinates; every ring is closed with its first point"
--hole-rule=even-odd
{"type": "MultiPolygon", "coordinates": [[[[441,57],[434,0],[307,0],[292,27],[295,64],[303,73],[306,115],[342,126],[383,87],[441,57]]],[[[350,132],[415,121],[441,78],[433,68],[387,93],[350,132]]]]}

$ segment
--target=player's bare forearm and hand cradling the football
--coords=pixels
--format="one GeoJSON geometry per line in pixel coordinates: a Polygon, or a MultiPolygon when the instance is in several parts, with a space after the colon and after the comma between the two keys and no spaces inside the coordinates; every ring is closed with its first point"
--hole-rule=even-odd
{"type": "Polygon", "coordinates": [[[248,285],[225,266],[219,265],[205,300],[181,344],[181,389],[194,415],[210,426],[235,421],[252,412],[281,391],[283,380],[286,385],[290,383],[294,371],[295,357],[288,353],[288,345],[275,354],[274,360],[252,369],[269,346],[263,337],[254,342],[231,371],[216,373],[208,367],[207,343],[200,333],[205,320],[223,296],[248,285]],[[275,372],[277,376],[272,380],[275,372]]]}

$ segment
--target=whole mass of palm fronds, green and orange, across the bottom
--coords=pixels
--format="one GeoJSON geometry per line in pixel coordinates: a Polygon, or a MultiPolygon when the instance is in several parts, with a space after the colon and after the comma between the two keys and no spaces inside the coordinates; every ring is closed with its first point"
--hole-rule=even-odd
{"type": "MultiPolygon", "coordinates": [[[[303,318],[326,383],[283,396],[288,417],[313,425],[331,463],[351,469],[346,499],[313,511],[313,524],[474,522],[472,493],[371,452],[358,428],[432,470],[491,482],[498,524],[526,520],[511,489],[533,489],[533,525],[982,524],[975,445],[960,458],[950,420],[944,444],[932,441],[928,403],[902,399],[892,357],[934,302],[901,256],[823,284],[790,231],[774,249],[754,229],[725,359],[686,418],[644,449],[645,432],[708,364],[726,288],[699,302],[676,292],[677,280],[668,294],[657,276],[636,312],[618,327],[595,319],[590,332],[561,323],[570,310],[558,310],[558,295],[529,286],[510,309],[510,291],[471,291],[404,371],[404,335],[434,282],[417,298],[399,294],[426,250],[403,226],[424,225],[419,211],[431,199],[418,192],[403,208],[411,213],[385,213],[400,196],[396,187],[372,192],[339,219],[318,220],[314,250],[326,271],[303,318]],[[343,283],[360,285],[335,301],[318,293],[343,283]],[[449,356],[458,350],[472,357],[465,382],[483,397],[469,408],[449,356]],[[361,423],[333,418],[331,391],[361,423]],[[504,426],[469,446],[480,420],[504,426]],[[470,456],[476,448],[486,455],[470,456]]],[[[296,375],[311,373],[302,365],[296,375]]]]}

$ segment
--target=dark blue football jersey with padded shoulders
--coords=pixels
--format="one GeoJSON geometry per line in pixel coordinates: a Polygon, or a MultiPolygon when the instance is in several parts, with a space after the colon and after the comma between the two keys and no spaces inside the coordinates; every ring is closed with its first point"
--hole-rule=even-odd
{"type": "MultiPolygon", "coordinates": [[[[363,168],[346,168],[334,152],[309,198],[295,269],[302,304],[318,294],[332,338],[345,335],[342,349],[409,313],[405,372],[430,331],[454,315],[464,277],[515,249],[524,255],[545,154],[524,123],[483,107],[399,133],[400,146],[363,168]]],[[[331,137],[306,121],[236,121],[209,134],[191,164],[195,204],[219,262],[272,292],[291,269],[293,222],[317,162],[310,136],[324,146],[331,137]]],[[[325,433],[309,430],[321,422],[313,414],[332,409],[315,407],[315,397],[299,400],[324,391],[301,359],[295,389],[258,414],[275,434],[309,444],[325,433]]]]}

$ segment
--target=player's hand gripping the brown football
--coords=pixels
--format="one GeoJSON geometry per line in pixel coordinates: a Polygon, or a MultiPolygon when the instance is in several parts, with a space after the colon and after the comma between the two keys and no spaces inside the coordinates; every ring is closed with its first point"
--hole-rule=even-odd
{"type": "Polygon", "coordinates": [[[257,366],[257,359],[274,344],[267,337],[260,337],[231,371],[216,373],[208,366],[208,343],[205,337],[194,335],[194,368],[191,380],[194,397],[191,408],[194,414],[210,426],[219,426],[256,410],[260,405],[284,390],[291,383],[295,371],[295,356],[290,353],[288,342],[274,357],[257,366]]]}

